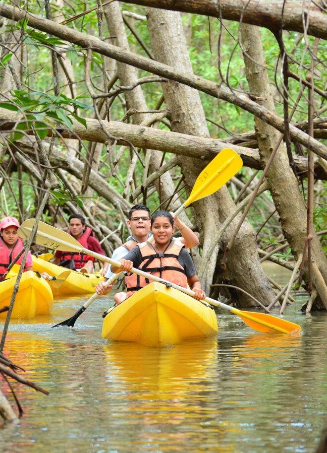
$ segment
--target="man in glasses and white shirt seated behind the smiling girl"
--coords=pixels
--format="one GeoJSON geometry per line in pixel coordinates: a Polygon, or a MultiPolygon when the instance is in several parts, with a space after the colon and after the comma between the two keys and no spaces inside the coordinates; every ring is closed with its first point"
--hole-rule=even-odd
{"type": "MultiPolygon", "coordinates": [[[[166,211],[159,211],[159,212],[166,212],[166,211]]],[[[153,218],[157,215],[158,213],[154,214],[153,218]]],[[[170,213],[168,213],[169,219],[171,219],[172,222],[172,233],[175,230],[175,226],[178,227],[179,231],[182,234],[182,238],[175,239],[176,242],[180,243],[182,248],[191,248],[195,247],[198,243],[199,240],[197,236],[193,233],[193,231],[188,228],[186,225],[184,225],[177,217],[174,219],[170,213]]],[[[170,220],[169,220],[170,221],[170,220]]],[[[122,246],[118,247],[113,252],[112,259],[115,259],[116,261],[120,261],[122,258],[126,256],[126,253],[128,251],[131,251],[135,245],[145,243],[151,234],[149,234],[149,229],[151,225],[151,220],[150,220],[150,210],[148,209],[147,206],[145,205],[135,205],[131,208],[129,211],[129,220],[127,221],[127,225],[131,228],[133,237],[129,237],[127,239],[127,242],[123,244],[122,246]]],[[[171,233],[171,235],[172,235],[171,233]]],[[[172,238],[171,238],[172,240],[172,238]]],[[[173,241],[173,240],[172,240],[173,241]]],[[[128,254],[129,255],[129,254],[128,254]]],[[[192,262],[192,266],[194,269],[195,273],[195,268],[193,261],[190,257],[189,254],[187,254],[189,259],[192,262]]],[[[104,294],[109,294],[109,292],[112,289],[112,285],[109,285],[108,287],[105,285],[106,281],[113,275],[115,272],[112,271],[112,266],[111,270],[107,272],[105,275],[105,280],[102,282],[99,282],[95,288],[96,292],[99,295],[104,295],[104,294]]],[[[119,292],[116,293],[114,296],[114,301],[116,303],[120,303],[121,301],[125,300],[126,298],[126,293],[125,292],[119,292]]]]}

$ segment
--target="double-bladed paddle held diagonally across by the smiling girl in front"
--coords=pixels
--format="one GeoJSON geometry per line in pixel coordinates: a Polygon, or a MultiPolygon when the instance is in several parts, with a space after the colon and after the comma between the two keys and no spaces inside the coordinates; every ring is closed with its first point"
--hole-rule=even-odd
{"type": "MultiPolygon", "coordinates": [[[[34,219],[29,219],[22,223],[22,225],[18,229],[18,236],[23,239],[28,238],[32,231],[34,222],[34,219]]],[[[92,252],[91,250],[84,249],[84,247],[82,247],[81,244],[68,233],[54,228],[51,225],[47,225],[44,222],[39,222],[38,224],[36,243],[53,250],[84,253],[85,255],[90,255],[91,257],[100,259],[102,261],[107,261],[114,266],[120,267],[119,261],[104,257],[103,255],[92,252]]],[[[131,272],[134,272],[150,280],[166,283],[167,286],[172,286],[173,288],[178,289],[191,297],[194,297],[194,292],[190,289],[183,288],[182,286],[176,285],[175,283],[168,282],[163,278],[159,278],[155,275],[143,272],[142,270],[136,269],[135,267],[132,267],[131,272]]],[[[215,299],[211,299],[210,297],[206,297],[205,300],[216,307],[220,307],[222,309],[228,310],[234,315],[238,315],[246,324],[259,332],[298,333],[301,331],[301,327],[298,324],[290,323],[289,321],[285,321],[280,318],[275,318],[274,316],[267,315],[266,313],[241,311],[236,308],[230,307],[229,305],[223,304],[222,302],[216,301],[215,299]]]]}

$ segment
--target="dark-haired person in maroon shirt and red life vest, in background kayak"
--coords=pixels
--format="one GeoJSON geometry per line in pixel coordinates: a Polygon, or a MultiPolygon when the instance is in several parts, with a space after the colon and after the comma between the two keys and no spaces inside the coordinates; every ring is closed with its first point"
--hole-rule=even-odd
{"type": "MultiPolygon", "coordinates": [[[[92,250],[105,256],[104,251],[98,239],[93,236],[92,228],[87,227],[85,219],[81,214],[72,214],[69,217],[69,233],[75,238],[83,248],[92,250]]],[[[78,252],[61,252],[57,250],[54,254],[54,263],[60,266],[73,268],[79,272],[93,273],[95,258],[78,252]]],[[[108,269],[108,263],[102,261],[102,275],[105,275],[108,269]]]]}

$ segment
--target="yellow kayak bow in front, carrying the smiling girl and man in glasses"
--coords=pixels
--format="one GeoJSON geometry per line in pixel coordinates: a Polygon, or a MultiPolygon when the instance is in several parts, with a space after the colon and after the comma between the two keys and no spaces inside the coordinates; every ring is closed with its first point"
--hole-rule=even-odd
{"type": "Polygon", "coordinates": [[[209,304],[157,282],[109,309],[102,327],[103,338],[157,347],[217,332],[216,313],[209,304]]]}

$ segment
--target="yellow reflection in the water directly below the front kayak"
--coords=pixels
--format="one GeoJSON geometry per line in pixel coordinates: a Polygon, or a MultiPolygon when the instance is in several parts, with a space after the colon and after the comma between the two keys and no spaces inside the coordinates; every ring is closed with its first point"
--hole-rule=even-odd
{"type": "Polygon", "coordinates": [[[220,449],[218,442],[226,423],[220,424],[214,397],[217,339],[187,341],[170,348],[112,342],[104,346],[104,352],[107,379],[115,383],[113,404],[116,411],[122,411],[120,417],[128,417],[126,435],[129,442],[134,439],[138,451],[157,447],[158,451],[185,452],[192,446],[202,451],[200,446],[210,445],[217,452],[234,451],[226,445],[220,449]]]}

